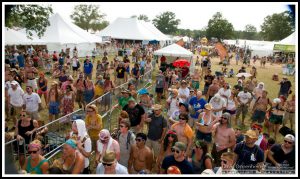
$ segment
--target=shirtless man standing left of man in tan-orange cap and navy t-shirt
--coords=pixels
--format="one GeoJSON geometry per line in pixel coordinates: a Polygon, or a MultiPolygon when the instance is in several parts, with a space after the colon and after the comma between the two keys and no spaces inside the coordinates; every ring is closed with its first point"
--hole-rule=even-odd
{"type": "Polygon", "coordinates": [[[224,113],[220,119],[220,123],[216,124],[213,129],[214,145],[212,148],[212,156],[215,159],[216,166],[221,166],[221,155],[227,150],[233,150],[236,137],[233,128],[230,126],[230,114],[224,113]]]}

